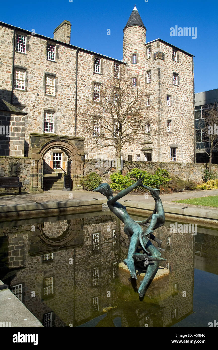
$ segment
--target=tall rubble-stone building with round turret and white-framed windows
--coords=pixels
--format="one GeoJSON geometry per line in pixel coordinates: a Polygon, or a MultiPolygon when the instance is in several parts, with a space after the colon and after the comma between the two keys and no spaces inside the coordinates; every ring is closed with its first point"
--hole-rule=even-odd
{"type": "MultiPolygon", "coordinates": [[[[102,76],[111,70],[119,75],[126,65],[133,72],[133,86],[134,72],[145,80],[151,91],[148,101],[157,101],[159,126],[166,135],[152,139],[152,125],[147,123],[141,146],[124,147],[123,160],[193,162],[193,55],[161,39],[146,43],[146,27],[136,7],[124,28],[123,61],[71,45],[70,34],[69,21],[55,29],[53,39],[0,22],[0,98],[26,113],[24,139],[17,150],[13,146],[1,155],[18,156],[22,149],[22,156],[30,156],[31,134],[49,134],[51,139],[84,137],[84,151],[76,149],[81,161],[115,159],[113,148],[94,151],[92,141],[79,130],[77,111],[98,97],[102,76]]],[[[93,132],[96,127],[93,117],[93,132]]],[[[66,170],[72,157],[60,145],[54,142],[43,154],[45,174],[54,172],[56,164],[66,170]]],[[[36,170],[42,167],[40,163],[36,170]]]]}

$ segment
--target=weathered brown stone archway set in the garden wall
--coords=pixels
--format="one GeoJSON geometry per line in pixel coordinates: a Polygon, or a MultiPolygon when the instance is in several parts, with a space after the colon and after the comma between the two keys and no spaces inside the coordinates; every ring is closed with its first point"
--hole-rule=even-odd
{"type": "Polygon", "coordinates": [[[59,148],[71,161],[71,179],[73,189],[80,188],[83,178],[85,138],[59,136],[52,134],[30,134],[29,156],[31,157],[30,190],[43,190],[43,159],[52,148],[59,148]]]}

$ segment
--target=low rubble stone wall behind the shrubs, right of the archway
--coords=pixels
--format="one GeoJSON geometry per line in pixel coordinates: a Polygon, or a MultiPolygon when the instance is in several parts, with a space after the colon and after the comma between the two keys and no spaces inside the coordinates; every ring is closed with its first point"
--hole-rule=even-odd
{"type": "MultiPolygon", "coordinates": [[[[115,162],[103,159],[85,159],[84,176],[94,172],[100,175],[103,181],[110,181],[109,176],[116,172],[115,162]]],[[[179,163],[179,162],[137,162],[123,161],[122,174],[126,175],[134,168],[146,170],[154,174],[157,168],[166,169],[170,175],[179,176],[183,180],[192,180],[202,183],[205,165],[202,163],[179,163]]],[[[218,164],[211,165],[212,172],[218,174],[218,164]]]]}

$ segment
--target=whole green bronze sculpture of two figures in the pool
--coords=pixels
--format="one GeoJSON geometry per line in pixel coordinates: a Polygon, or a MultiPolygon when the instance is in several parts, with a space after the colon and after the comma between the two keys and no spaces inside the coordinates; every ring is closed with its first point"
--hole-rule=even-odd
{"type": "MultiPolygon", "coordinates": [[[[150,280],[152,280],[157,272],[159,261],[165,260],[161,258],[161,253],[159,249],[157,249],[146,237],[150,235],[151,239],[155,239],[155,236],[152,235],[153,229],[155,230],[157,227],[160,227],[164,224],[165,218],[164,218],[164,211],[162,212],[162,203],[159,197],[159,193],[157,189],[153,189],[150,187],[147,187],[145,185],[142,185],[142,181],[144,179],[144,176],[139,177],[138,181],[134,183],[132,186],[129,186],[128,188],[122,190],[120,193],[118,193],[115,197],[113,197],[113,192],[111,187],[107,183],[100,184],[96,189],[93,191],[100,192],[101,194],[105,195],[108,199],[107,205],[110,208],[110,210],[124,223],[124,232],[127,234],[130,244],[129,244],[129,250],[128,250],[128,256],[127,259],[124,260],[125,264],[128,266],[128,269],[131,273],[131,276],[135,279],[136,273],[135,273],[135,265],[134,265],[134,258],[138,260],[145,260],[148,259],[149,264],[147,266],[145,278],[143,279],[141,286],[139,287],[139,295],[143,296],[145,294],[145,289],[149,283],[150,280]],[[147,188],[150,190],[153,194],[153,198],[156,199],[155,203],[155,210],[152,215],[152,220],[150,223],[149,228],[143,233],[142,227],[140,225],[144,225],[148,223],[148,219],[146,221],[142,222],[136,222],[134,221],[129,214],[126,211],[126,207],[124,207],[122,204],[117,202],[120,198],[126,196],[129,192],[134,190],[136,187],[142,186],[144,188],[147,188]],[[153,218],[154,216],[154,218],[153,218]],[[139,243],[141,243],[141,246],[143,250],[145,250],[149,255],[147,254],[140,254],[135,255],[136,249],[139,246],[139,243]]],[[[156,239],[157,241],[157,239],[156,239]]],[[[161,241],[159,241],[159,248],[161,245],[161,241]]]]}

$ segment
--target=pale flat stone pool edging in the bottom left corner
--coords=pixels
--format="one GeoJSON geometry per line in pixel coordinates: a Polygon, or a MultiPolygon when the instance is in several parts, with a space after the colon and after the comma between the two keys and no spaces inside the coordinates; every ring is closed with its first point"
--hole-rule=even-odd
{"type": "MultiPolygon", "coordinates": [[[[0,280],[0,285],[4,283],[0,280]]],[[[43,327],[10,289],[0,290],[0,322],[10,322],[10,327],[43,327]]],[[[9,327],[9,323],[8,323],[9,327]]]]}

